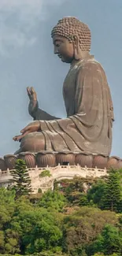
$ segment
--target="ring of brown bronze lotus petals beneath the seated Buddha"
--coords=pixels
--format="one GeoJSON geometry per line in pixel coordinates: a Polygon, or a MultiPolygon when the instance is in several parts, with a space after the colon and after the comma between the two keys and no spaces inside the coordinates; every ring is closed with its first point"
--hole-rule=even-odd
{"type": "Polygon", "coordinates": [[[24,152],[18,155],[7,154],[4,158],[0,158],[0,169],[5,171],[6,169],[14,169],[17,159],[23,159],[26,162],[28,168],[35,168],[35,166],[45,168],[60,165],[80,165],[81,167],[87,166],[87,168],[99,168],[99,169],[121,169],[122,159],[117,157],[105,157],[102,154],[83,154],[73,152],[49,152],[41,151],[38,154],[32,154],[31,152],[24,152]]]}

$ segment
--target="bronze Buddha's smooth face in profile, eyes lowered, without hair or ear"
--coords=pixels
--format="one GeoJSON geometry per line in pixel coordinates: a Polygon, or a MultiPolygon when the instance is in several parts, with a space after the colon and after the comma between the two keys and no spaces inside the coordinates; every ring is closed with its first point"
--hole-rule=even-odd
{"type": "Polygon", "coordinates": [[[61,61],[71,63],[74,59],[74,46],[68,39],[61,35],[54,35],[54,54],[57,54],[61,61]]]}

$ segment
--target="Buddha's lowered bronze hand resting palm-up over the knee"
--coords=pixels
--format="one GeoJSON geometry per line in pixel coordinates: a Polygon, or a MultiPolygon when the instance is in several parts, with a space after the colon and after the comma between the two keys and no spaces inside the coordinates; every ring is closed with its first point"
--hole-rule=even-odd
{"type": "Polygon", "coordinates": [[[20,141],[20,139],[24,138],[25,135],[27,135],[30,132],[38,132],[40,129],[40,123],[39,121],[34,121],[31,124],[28,124],[24,129],[22,129],[20,132],[22,135],[17,135],[13,137],[13,140],[20,141]]]}

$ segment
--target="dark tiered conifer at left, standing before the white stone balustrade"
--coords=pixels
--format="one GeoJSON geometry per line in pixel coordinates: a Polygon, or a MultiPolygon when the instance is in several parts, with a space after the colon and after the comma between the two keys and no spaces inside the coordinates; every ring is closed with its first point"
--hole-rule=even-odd
{"type": "Polygon", "coordinates": [[[32,192],[31,179],[28,174],[25,161],[18,159],[15,169],[11,171],[13,179],[13,189],[16,191],[16,198],[21,195],[29,195],[32,192]]]}

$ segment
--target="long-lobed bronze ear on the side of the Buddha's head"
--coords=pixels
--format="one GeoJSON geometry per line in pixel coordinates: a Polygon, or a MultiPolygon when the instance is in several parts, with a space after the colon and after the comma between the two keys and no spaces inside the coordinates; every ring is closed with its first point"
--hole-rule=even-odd
{"type": "Polygon", "coordinates": [[[79,61],[82,58],[82,50],[79,48],[79,36],[72,35],[72,44],[74,46],[74,57],[76,61],[79,61]]]}

